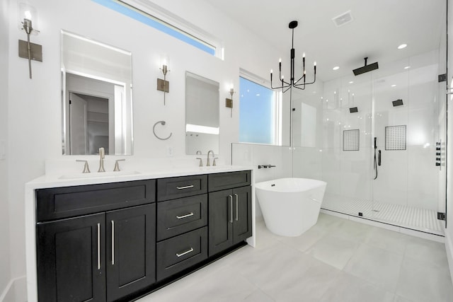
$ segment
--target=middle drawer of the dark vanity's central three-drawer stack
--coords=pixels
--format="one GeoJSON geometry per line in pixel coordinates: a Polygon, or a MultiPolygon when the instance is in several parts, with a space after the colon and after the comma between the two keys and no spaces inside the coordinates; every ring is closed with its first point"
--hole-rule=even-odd
{"type": "Polygon", "coordinates": [[[157,204],[157,240],[207,225],[207,194],[157,204]]]}

